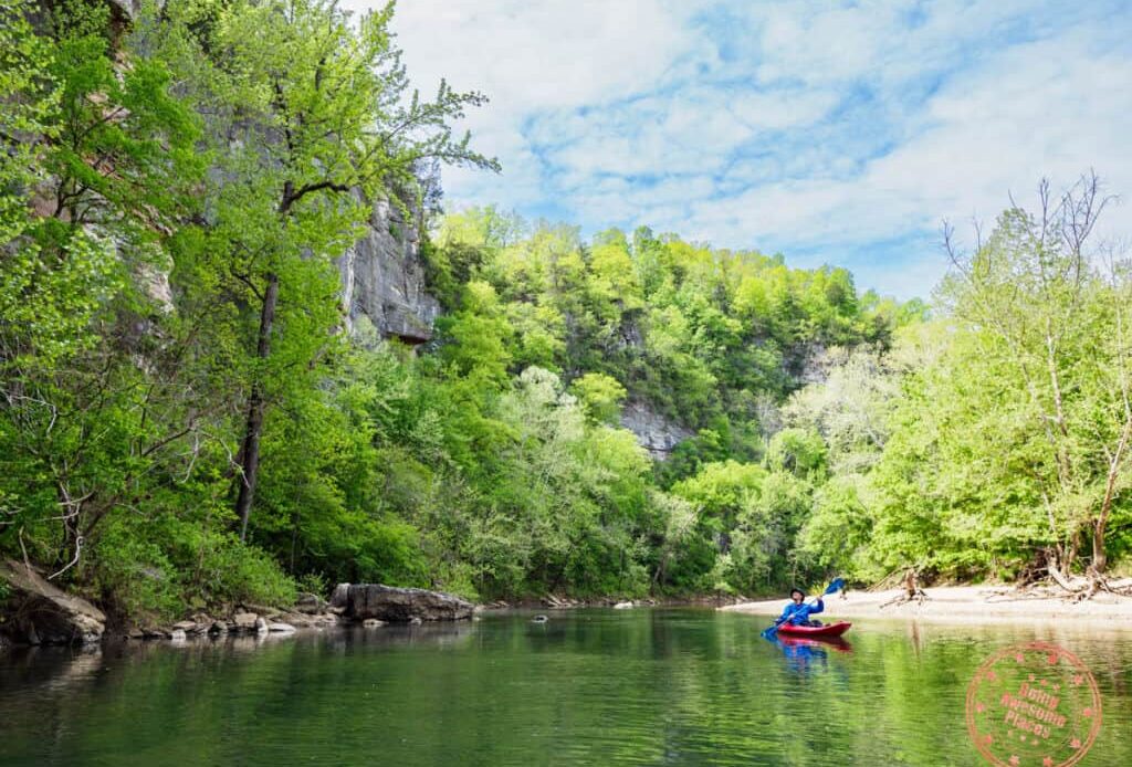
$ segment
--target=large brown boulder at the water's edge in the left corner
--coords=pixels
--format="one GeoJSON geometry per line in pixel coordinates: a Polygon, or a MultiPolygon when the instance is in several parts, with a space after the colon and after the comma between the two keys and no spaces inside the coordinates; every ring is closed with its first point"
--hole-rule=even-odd
{"type": "Polygon", "coordinates": [[[105,614],[84,598],[49,583],[35,569],[7,560],[0,580],[8,583],[0,634],[20,645],[80,645],[102,639],[105,614]]]}

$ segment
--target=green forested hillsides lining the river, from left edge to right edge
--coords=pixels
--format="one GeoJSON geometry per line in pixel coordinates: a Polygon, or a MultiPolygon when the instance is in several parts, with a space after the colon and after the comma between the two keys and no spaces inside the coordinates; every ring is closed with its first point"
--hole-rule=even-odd
{"type": "Polygon", "coordinates": [[[5,557],[126,617],[1126,555],[1132,283],[1089,180],[957,249],[931,312],[780,255],[445,215],[421,176],[496,170],[449,128],[483,98],[413,96],[391,12],[0,0],[5,557]],[[427,233],[421,346],[343,316],[375,200],[427,233]]]}

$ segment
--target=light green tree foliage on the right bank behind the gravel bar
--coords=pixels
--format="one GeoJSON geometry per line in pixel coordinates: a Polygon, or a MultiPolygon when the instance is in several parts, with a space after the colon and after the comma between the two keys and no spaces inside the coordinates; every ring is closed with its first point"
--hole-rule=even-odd
{"type": "Polygon", "coordinates": [[[834,355],[783,408],[823,436],[834,474],[800,561],[1009,579],[1126,555],[1129,270],[1088,245],[1095,178],[1040,202],[953,253],[947,317],[899,328],[887,354],[834,355]]]}

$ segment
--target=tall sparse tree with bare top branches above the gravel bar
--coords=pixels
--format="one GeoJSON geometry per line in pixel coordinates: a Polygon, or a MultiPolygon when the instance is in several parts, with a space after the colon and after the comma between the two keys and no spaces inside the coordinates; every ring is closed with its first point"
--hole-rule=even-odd
{"type": "Polygon", "coordinates": [[[1044,446],[1024,471],[1048,525],[1049,572],[1063,581],[1082,543],[1092,570],[1105,571],[1108,523],[1132,460],[1127,272],[1114,262],[1106,282],[1092,244],[1108,201],[1096,175],[1060,196],[1044,181],[1037,210],[1011,207],[970,255],[945,229],[957,274],[942,294],[995,339],[984,348],[1003,380],[986,385],[1023,395],[1019,437],[1044,446]]]}

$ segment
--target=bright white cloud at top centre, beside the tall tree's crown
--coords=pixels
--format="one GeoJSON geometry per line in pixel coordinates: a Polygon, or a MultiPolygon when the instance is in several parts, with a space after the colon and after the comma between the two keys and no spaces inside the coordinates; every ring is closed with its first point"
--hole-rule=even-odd
{"type": "Polygon", "coordinates": [[[698,45],[686,27],[694,10],[662,0],[402,0],[393,27],[422,86],[446,77],[515,117],[648,88],[698,45]]]}

